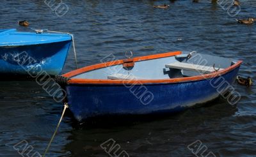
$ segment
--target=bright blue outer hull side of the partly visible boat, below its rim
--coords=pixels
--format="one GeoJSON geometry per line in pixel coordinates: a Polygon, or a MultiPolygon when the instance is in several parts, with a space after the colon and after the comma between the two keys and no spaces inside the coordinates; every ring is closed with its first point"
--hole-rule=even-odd
{"type": "Polygon", "coordinates": [[[36,45],[0,47],[0,73],[30,75],[42,71],[58,75],[63,69],[71,40],[36,45]]]}

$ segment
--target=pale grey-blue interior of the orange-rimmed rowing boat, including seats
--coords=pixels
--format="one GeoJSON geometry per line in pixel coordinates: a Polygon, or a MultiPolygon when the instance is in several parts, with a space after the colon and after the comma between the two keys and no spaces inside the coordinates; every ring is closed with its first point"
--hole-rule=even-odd
{"type": "Polygon", "coordinates": [[[191,77],[224,70],[237,61],[224,57],[206,54],[181,54],[145,61],[134,62],[134,66],[124,64],[108,66],[97,70],[86,71],[74,79],[110,79],[110,80],[151,80],[191,77]]]}

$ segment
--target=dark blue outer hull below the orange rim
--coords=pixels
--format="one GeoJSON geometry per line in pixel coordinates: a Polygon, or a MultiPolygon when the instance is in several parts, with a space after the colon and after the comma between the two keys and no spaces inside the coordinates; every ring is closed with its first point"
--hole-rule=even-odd
{"type": "Polygon", "coordinates": [[[189,82],[68,84],[65,90],[69,108],[78,121],[113,114],[172,113],[218,98],[233,84],[238,71],[239,66],[221,76],[189,82]]]}

